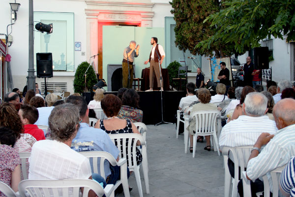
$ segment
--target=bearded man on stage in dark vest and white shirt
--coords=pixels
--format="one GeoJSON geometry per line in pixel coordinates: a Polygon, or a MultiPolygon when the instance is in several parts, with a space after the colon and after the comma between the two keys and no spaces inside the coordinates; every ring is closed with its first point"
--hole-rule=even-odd
{"type": "Polygon", "coordinates": [[[154,75],[156,75],[158,87],[161,86],[161,91],[163,91],[163,78],[161,79],[162,84],[160,81],[160,66],[163,63],[165,52],[163,47],[158,44],[158,38],[152,37],[150,40],[150,44],[152,45],[152,47],[149,54],[149,59],[144,63],[146,65],[149,62],[149,90],[147,91],[153,90],[154,75]]]}

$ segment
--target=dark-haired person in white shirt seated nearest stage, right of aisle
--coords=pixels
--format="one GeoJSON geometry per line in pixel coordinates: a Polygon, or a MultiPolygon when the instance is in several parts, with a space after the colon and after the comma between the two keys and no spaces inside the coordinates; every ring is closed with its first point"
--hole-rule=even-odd
{"type": "Polygon", "coordinates": [[[182,97],[179,102],[178,109],[181,112],[184,112],[186,108],[194,101],[198,100],[198,97],[194,95],[195,92],[195,84],[189,82],[186,84],[186,97],[182,97]]]}

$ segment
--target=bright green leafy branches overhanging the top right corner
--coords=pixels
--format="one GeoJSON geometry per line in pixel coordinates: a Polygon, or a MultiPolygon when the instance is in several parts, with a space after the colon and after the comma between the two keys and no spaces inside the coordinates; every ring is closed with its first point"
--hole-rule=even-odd
{"type": "Polygon", "coordinates": [[[215,41],[232,43],[236,52],[244,53],[271,35],[295,40],[295,0],[228,0],[222,7],[204,21],[217,31],[197,43],[201,53],[215,41]]]}

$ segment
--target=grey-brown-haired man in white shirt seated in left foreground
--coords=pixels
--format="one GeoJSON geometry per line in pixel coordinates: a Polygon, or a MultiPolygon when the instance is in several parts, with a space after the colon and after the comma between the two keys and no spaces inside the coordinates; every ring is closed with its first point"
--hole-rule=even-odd
{"type": "Polygon", "coordinates": [[[53,140],[33,145],[29,179],[92,179],[89,160],[70,148],[80,128],[78,111],[69,103],[52,110],[49,127],[53,140]]]}

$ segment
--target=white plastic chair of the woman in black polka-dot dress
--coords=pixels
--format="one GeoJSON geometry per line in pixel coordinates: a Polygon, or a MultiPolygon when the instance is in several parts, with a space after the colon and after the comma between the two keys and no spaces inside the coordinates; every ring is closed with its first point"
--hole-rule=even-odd
{"type": "Polygon", "coordinates": [[[129,170],[134,171],[137,188],[139,191],[139,196],[143,197],[143,190],[142,190],[140,173],[139,173],[140,165],[136,164],[136,142],[140,141],[142,145],[141,153],[143,157],[143,161],[141,165],[143,167],[144,179],[146,183],[146,193],[149,194],[148,157],[147,157],[147,146],[146,146],[146,141],[144,140],[144,137],[141,134],[137,134],[137,133],[109,134],[109,136],[115,145],[117,143],[116,146],[121,153],[120,156],[122,158],[127,159],[127,155],[128,155],[127,164],[128,164],[129,170]],[[126,153],[126,150],[128,150],[128,154],[126,153]],[[132,164],[131,158],[133,160],[133,164],[132,164]]]}

